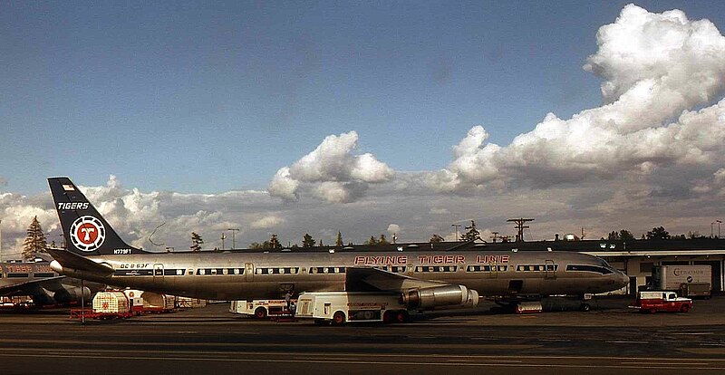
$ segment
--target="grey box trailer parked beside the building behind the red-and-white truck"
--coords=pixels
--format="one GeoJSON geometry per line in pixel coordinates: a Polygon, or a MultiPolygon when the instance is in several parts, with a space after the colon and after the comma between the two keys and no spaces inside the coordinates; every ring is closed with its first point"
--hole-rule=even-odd
{"type": "Polygon", "coordinates": [[[710,265],[657,265],[652,268],[652,289],[678,292],[683,296],[710,297],[710,265]]]}

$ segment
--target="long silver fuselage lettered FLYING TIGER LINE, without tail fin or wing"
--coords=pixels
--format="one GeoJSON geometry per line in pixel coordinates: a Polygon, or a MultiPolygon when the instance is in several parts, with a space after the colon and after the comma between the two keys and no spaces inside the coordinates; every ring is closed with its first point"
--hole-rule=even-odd
{"type": "Polygon", "coordinates": [[[114,274],[83,274],[57,262],[53,268],[104,284],[215,300],[275,298],[287,290],[344,291],[349,267],[461,284],[488,296],[604,293],[628,282],[600,258],[562,252],[201,252],[89,258],[111,266],[114,274]]]}

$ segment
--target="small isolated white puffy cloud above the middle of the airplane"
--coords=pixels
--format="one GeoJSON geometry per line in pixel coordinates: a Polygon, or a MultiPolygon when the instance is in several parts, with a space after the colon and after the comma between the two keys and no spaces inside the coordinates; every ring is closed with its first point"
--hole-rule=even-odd
{"type": "Polygon", "coordinates": [[[395,172],[370,153],[354,155],[357,132],[330,135],[314,151],[291,167],[277,170],[269,193],[287,200],[299,198],[301,187],[330,203],[348,203],[362,197],[368,184],[391,181],[395,172]]]}

